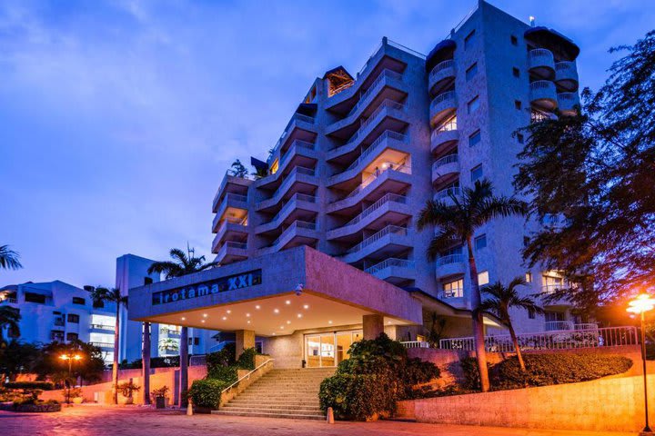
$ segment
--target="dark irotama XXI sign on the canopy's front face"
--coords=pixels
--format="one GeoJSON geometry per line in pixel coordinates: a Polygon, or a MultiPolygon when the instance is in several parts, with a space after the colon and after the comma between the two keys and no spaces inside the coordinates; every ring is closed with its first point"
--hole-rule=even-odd
{"type": "Polygon", "coordinates": [[[241,274],[228,275],[219,279],[200,282],[185,286],[184,288],[171,289],[153,293],[152,304],[166,304],[167,302],[179,302],[192,298],[204,297],[218,292],[234,291],[236,289],[249,288],[261,284],[261,270],[244,272],[241,274]]]}

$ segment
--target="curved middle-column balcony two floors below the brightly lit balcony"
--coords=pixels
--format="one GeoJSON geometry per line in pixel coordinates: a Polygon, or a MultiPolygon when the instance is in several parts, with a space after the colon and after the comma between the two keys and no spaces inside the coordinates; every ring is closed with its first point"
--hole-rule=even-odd
{"type": "Polygon", "coordinates": [[[345,263],[356,263],[373,254],[379,259],[383,256],[393,256],[407,251],[412,246],[407,227],[388,225],[348,249],[346,254],[340,257],[340,260],[345,263]]]}

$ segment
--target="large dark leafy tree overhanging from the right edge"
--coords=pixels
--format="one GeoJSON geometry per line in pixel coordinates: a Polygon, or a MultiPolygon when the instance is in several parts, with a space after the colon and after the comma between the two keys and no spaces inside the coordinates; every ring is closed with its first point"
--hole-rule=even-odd
{"type": "Polygon", "coordinates": [[[599,92],[585,89],[579,114],[530,124],[515,186],[540,220],[530,265],[562,272],[567,299],[593,311],[655,284],[655,31],[612,64],[599,92]]]}

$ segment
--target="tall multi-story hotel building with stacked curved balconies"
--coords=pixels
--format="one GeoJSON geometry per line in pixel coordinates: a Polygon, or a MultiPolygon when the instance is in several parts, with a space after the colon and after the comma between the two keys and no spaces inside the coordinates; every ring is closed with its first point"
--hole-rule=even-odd
{"type": "MultiPolygon", "coordinates": [[[[382,38],[357,74],[339,66],[310,85],[266,165],[258,163],[266,176],[226,174],[213,203],[216,260],[308,245],[470,309],[462,248],[428,259],[432,233],[419,233],[415,217],[429,199],[451,202],[483,177],[496,193],[514,193],[525,141],[515,132],[556,109],[574,111],[578,54],[567,37],[485,2],[427,56],[382,38]]],[[[557,273],[524,266],[529,231],[514,217],[476,234],[481,284],[525,276],[528,294],[561,286],[557,273]]],[[[575,322],[566,304],[547,309],[545,319],[514,313],[519,331],[575,322]]]]}

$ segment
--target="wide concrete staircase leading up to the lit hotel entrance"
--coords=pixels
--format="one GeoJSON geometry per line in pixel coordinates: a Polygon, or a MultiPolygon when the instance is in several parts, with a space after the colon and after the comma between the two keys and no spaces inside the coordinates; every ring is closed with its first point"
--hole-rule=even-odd
{"type": "Polygon", "coordinates": [[[273,369],[212,413],[325,420],[318,404],[318,390],[320,382],[334,372],[334,368],[273,369]]]}

